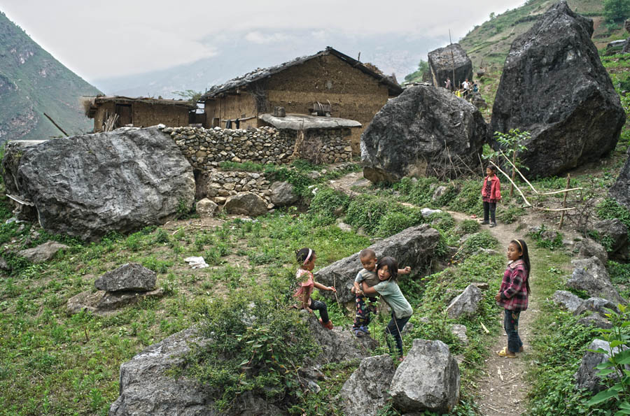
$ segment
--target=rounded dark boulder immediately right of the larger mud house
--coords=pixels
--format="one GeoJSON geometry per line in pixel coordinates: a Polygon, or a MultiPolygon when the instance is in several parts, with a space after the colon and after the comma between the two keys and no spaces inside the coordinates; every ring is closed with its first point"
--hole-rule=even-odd
{"type": "Polygon", "coordinates": [[[479,110],[446,89],[407,88],[363,131],[363,176],[372,182],[397,182],[405,176],[455,178],[479,164],[486,131],[479,110]]]}

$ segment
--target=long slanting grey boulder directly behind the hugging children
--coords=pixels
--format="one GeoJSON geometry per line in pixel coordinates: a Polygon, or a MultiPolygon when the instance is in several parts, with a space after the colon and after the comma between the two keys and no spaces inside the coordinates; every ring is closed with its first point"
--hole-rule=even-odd
{"type": "MultiPolygon", "coordinates": [[[[398,260],[398,266],[403,268],[410,266],[412,273],[424,270],[435,257],[435,248],[440,241],[440,233],[428,224],[410,227],[398,234],[385,238],[370,245],[377,258],[390,256],[398,260]]],[[[315,281],[322,285],[335,286],[337,294],[321,292],[329,299],[339,299],[346,303],[354,301],[354,294],[350,292],[356,273],[361,270],[361,262],[358,253],[335,261],[315,273],[315,281]]]]}

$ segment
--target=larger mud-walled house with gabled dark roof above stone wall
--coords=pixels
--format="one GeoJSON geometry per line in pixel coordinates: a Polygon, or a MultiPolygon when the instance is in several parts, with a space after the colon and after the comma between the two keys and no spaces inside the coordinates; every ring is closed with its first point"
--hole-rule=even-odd
{"type": "Polygon", "coordinates": [[[358,155],[360,135],[390,97],[402,92],[392,78],[333,48],[278,66],[257,69],[201,97],[204,127],[262,127],[260,115],[283,107],[286,113],[313,113],[314,106],[330,106],[332,117],[356,120],[349,141],[358,155]],[[229,123],[229,124],[228,124],[229,123]]]}

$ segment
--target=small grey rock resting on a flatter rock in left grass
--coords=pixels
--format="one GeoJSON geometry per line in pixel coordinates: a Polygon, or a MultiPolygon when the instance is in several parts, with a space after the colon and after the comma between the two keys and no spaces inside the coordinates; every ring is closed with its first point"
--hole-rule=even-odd
{"type": "Polygon", "coordinates": [[[127,263],[102,275],[94,281],[94,286],[108,292],[121,290],[148,292],[155,289],[156,278],[155,271],[138,263],[127,263]]]}

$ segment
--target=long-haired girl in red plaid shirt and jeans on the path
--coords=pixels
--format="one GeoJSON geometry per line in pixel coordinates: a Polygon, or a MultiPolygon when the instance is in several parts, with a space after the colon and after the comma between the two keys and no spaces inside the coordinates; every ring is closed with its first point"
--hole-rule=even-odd
{"type": "Polygon", "coordinates": [[[523,240],[512,240],[507,245],[507,259],[509,260],[503,281],[495,299],[498,306],[505,310],[503,328],[507,333],[507,347],[497,351],[499,357],[516,357],[517,352],[523,351],[523,342],[519,336],[519,315],[527,309],[529,298],[529,253],[527,244],[523,240]]]}

